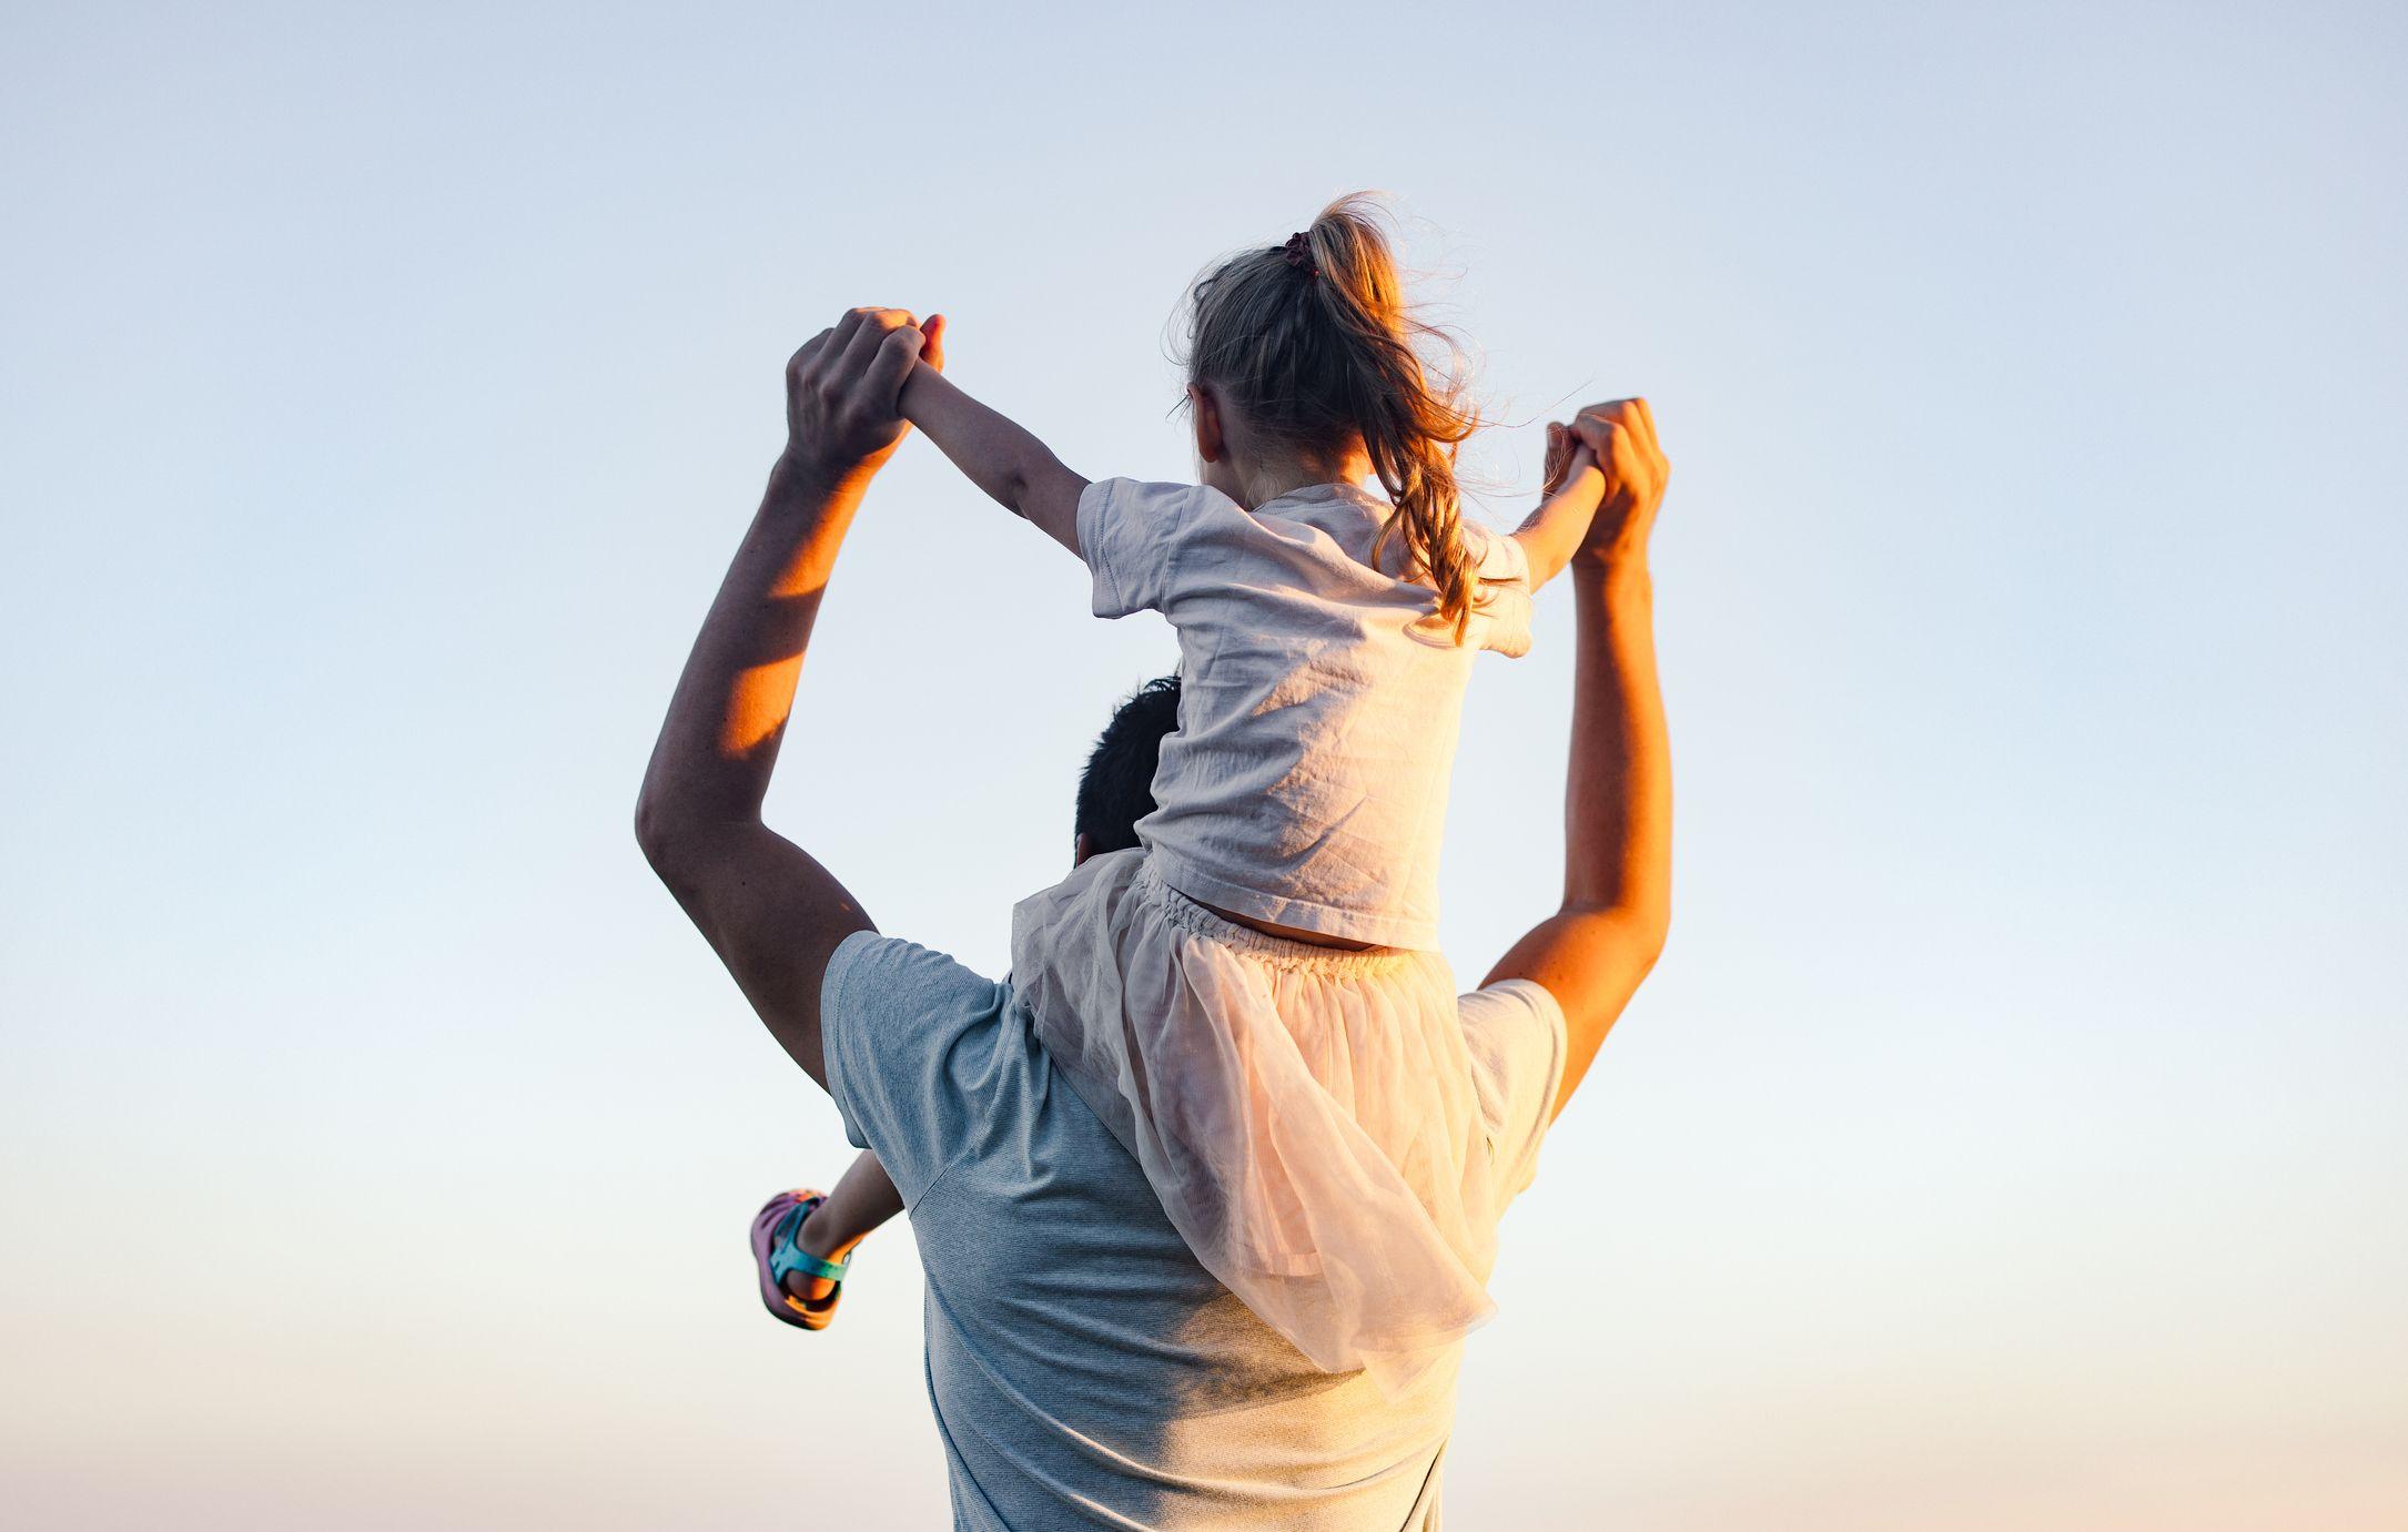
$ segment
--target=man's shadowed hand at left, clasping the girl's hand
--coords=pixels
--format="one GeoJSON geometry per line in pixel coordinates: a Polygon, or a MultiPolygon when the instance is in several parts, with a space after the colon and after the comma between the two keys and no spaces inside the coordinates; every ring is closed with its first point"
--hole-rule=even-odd
{"type": "MultiPolygon", "coordinates": [[[[944,323],[929,328],[942,366],[944,323]]],[[[910,429],[898,397],[927,349],[905,308],[855,308],[802,342],[785,364],[785,462],[828,484],[879,472],[910,429]]]]}

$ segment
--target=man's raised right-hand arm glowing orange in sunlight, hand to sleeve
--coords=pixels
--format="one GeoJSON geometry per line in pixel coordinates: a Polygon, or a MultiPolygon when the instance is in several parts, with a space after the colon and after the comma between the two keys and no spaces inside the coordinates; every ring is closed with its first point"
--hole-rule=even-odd
{"type": "Polygon", "coordinates": [[[1606,499],[1572,556],[1580,629],[1563,906],[1481,980],[1531,978],[1563,1004],[1570,1036],[1558,1113],[1654,968],[1671,923],[1671,747],[1647,576],[1647,535],[1671,465],[1657,450],[1647,400],[1592,405],[1572,431],[1597,453],[1606,499]]]}

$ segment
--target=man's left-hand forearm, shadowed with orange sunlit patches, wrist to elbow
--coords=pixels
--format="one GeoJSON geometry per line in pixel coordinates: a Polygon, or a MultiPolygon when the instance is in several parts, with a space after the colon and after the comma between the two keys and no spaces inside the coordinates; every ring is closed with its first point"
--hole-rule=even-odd
{"type": "Polygon", "coordinates": [[[867,475],[821,477],[792,455],[737,547],[694,638],[636,807],[653,848],[677,829],[756,819],[795,706],[795,679],[867,475]]]}

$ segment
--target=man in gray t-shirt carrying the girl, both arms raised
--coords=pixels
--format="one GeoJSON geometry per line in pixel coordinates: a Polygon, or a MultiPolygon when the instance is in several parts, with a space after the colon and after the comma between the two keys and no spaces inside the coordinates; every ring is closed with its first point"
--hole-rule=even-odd
{"type": "MultiPolygon", "coordinates": [[[[903,441],[893,402],[920,349],[913,316],[855,308],[787,364],[787,448],[677,684],[636,836],[910,1209],[956,1525],[1433,1527],[1454,1361],[1397,1400],[1312,1368],[1194,1262],[1009,983],[879,937],[761,824],[821,593],[903,441]]],[[[1669,467],[1645,400],[1572,431],[1609,489],[1572,566],[1563,896],[1462,1000],[1500,1200],[1529,1183],[1669,918],[1647,576],[1669,467]]],[[[1081,855],[1100,829],[1081,824],[1081,855]]]]}

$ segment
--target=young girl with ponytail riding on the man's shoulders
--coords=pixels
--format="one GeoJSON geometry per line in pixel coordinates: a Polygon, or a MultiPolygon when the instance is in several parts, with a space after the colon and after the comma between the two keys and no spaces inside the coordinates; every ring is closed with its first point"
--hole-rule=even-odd
{"type": "MultiPolygon", "coordinates": [[[[1389,1390],[1493,1313],[1498,1209],[1438,951],[1464,684],[1476,650],[1529,650],[1531,590],[1604,491],[1548,426],[1551,499],[1510,537],[1466,523],[1454,450],[1479,422],[1426,369],[1430,335],[1346,198],[1194,284],[1202,484],[1091,484],[929,366],[901,395],[1088,564],[1098,617],[1156,609],[1180,641],[1141,843],[1014,908],[1016,1000],[1197,1260],[1317,1366],[1389,1390]]],[[[869,1154],[828,1197],[773,1197],[763,1303],[824,1327],[896,1212],[869,1154]]]]}

